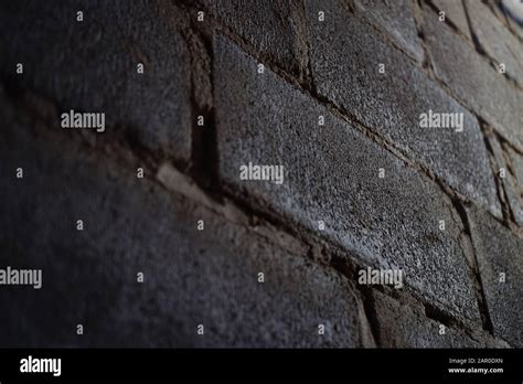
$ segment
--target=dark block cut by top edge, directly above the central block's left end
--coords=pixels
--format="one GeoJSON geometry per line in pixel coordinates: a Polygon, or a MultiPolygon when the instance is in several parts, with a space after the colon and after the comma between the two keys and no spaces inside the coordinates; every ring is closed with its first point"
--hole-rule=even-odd
{"type": "Polygon", "coordinates": [[[275,60],[288,72],[306,65],[302,31],[292,1],[198,0],[204,10],[247,40],[262,55],[275,60]]]}

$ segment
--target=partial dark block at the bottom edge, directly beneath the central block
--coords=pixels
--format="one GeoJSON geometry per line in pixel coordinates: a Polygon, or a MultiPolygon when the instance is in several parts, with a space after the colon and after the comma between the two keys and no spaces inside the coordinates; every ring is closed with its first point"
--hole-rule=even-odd
{"type": "Polygon", "coordinates": [[[376,339],[383,348],[508,348],[487,332],[471,337],[458,327],[448,327],[425,316],[416,303],[402,303],[374,290],[376,339]],[[441,328],[444,326],[444,329],[441,328]],[[444,330],[445,333],[440,333],[444,330]]]}

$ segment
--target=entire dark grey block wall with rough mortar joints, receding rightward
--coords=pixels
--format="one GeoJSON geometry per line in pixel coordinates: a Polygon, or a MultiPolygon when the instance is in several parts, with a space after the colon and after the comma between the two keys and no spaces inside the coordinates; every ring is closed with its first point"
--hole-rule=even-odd
{"type": "Polygon", "coordinates": [[[2,346],[523,345],[523,33],[501,3],[0,10],[0,268],[43,276],[0,286],[2,346]],[[64,129],[72,109],[105,130],[64,129]]]}

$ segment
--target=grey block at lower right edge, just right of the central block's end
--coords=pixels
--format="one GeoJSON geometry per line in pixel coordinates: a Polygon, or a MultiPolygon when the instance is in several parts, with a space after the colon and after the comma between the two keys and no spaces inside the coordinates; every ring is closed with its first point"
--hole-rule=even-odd
{"type": "Polygon", "coordinates": [[[489,215],[468,210],[494,335],[523,346],[523,239],[489,215]],[[504,282],[502,276],[504,274],[504,282]]]}

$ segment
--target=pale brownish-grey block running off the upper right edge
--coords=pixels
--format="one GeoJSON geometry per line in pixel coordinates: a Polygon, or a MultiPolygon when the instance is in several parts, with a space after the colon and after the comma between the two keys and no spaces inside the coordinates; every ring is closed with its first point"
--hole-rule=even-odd
{"type": "Polygon", "coordinates": [[[433,10],[424,17],[424,31],[436,76],[489,121],[511,143],[523,148],[523,96],[476,50],[438,21],[433,10]],[[441,44],[445,41],[446,44],[441,44]],[[473,95],[473,97],[471,96],[473,95]]]}

